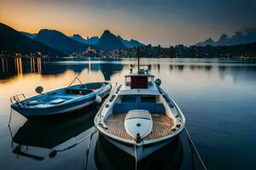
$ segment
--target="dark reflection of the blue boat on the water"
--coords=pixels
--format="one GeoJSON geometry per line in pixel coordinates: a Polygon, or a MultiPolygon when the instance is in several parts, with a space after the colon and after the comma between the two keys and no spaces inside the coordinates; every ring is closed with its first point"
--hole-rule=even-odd
{"type": "Polygon", "coordinates": [[[81,133],[84,135],[87,130],[90,131],[99,106],[91,105],[83,111],[77,111],[71,115],[26,121],[12,138],[13,153],[38,161],[44,160],[44,156],[29,153],[28,147],[54,150],[60,144],[73,144],[74,142],[69,141],[70,139],[79,136],[81,133]]]}

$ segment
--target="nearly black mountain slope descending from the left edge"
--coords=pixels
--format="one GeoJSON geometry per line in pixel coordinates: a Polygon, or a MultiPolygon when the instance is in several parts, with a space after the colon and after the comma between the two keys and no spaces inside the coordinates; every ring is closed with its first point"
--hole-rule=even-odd
{"type": "Polygon", "coordinates": [[[49,56],[67,56],[41,42],[24,36],[19,31],[3,23],[0,23],[0,37],[0,52],[4,52],[4,54],[36,54],[40,52],[49,56]]]}

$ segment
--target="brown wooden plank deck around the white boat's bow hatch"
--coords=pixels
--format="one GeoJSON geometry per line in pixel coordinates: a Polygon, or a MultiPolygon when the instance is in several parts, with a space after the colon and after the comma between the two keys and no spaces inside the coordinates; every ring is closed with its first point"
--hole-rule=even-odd
{"type": "MultiPolygon", "coordinates": [[[[119,136],[123,139],[134,140],[128,133],[125,131],[125,116],[126,114],[114,114],[108,117],[105,123],[108,126],[109,133],[119,136]]],[[[153,119],[153,129],[152,132],[148,134],[143,140],[158,139],[163,136],[169,135],[172,133],[173,120],[169,116],[160,115],[154,116],[151,115],[153,119]]]]}

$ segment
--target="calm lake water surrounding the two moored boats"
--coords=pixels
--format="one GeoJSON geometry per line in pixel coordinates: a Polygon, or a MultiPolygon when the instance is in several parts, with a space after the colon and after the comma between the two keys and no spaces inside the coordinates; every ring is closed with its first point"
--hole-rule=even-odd
{"type": "MultiPolygon", "coordinates": [[[[134,160],[98,133],[54,158],[88,135],[100,105],[70,116],[26,121],[15,111],[10,128],[9,97],[35,95],[82,82],[123,82],[134,59],[0,58],[0,169],[134,169],[134,160]],[[89,150],[87,149],[89,148],[89,150]]],[[[162,80],[186,116],[186,123],[209,169],[256,169],[256,64],[218,59],[142,59],[162,80]]],[[[185,134],[149,156],[139,167],[201,169],[185,134]]]]}

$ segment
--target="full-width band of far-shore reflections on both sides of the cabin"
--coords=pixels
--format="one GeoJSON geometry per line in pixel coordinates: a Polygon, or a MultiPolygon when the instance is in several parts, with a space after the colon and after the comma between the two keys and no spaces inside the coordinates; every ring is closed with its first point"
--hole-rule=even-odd
{"type": "MultiPolygon", "coordinates": [[[[0,78],[12,78],[23,77],[25,74],[34,73],[42,76],[48,75],[60,75],[65,71],[71,70],[76,73],[81,73],[87,70],[101,71],[105,80],[109,81],[114,73],[124,70],[124,67],[130,65],[132,62],[123,59],[56,59],[56,58],[0,58],[0,78]]],[[[232,76],[233,81],[241,80],[256,80],[256,65],[223,65],[222,63],[207,62],[204,65],[202,63],[196,63],[195,61],[180,60],[179,62],[161,63],[161,65],[155,64],[155,61],[142,59],[143,63],[150,64],[154,73],[160,74],[163,71],[169,70],[169,72],[177,71],[177,73],[183,73],[183,71],[202,71],[202,72],[218,72],[219,79],[224,80],[225,76],[232,76]],[[166,68],[166,65],[169,65],[166,68]],[[249,74],[248,74],[249,73],[249,74]]],[[[129,69],[127,69],[129,70],[129,69]]]]}

